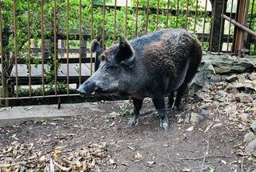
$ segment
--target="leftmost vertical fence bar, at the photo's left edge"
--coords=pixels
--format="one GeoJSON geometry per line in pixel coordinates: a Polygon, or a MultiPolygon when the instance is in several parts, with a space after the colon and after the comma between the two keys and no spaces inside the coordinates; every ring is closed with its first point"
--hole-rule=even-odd
{"type": "Polygon", "coordinates": [[[3,71],[3,52],[2,52],[2,0],[0,0],[0,54],[1,54],[1,78],[2,78],[2,98],[6,98],[6,86],[5,86],[5,76],[4,76],[4,71],[3,71]]]}

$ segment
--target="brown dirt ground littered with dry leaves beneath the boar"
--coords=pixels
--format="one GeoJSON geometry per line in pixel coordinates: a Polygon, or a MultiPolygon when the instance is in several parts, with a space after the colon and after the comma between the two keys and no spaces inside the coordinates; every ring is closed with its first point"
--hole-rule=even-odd
{"type": "Polygon", "coordinates": [[[122,114],[123,110],[130,110],[129,102],[95,102],[94,105],[96,108],[92,110],[74,104],[66,113],[77,116],[70,118],[0,127],[0,171],[43,171],[52,161],[57,171],[256,169],[255,158],[243,154],[242,139],[247,124],[223,113],[224,106],[210,106],[211,113],[200,122],[184,122],[181,119],[186,114],[200,114],[198,101],[186,99],[181,112],[169,110],[170,130],[164,131],[150,100],[144,102],[141,118],[134,127],[126,125],[129,115],[110,118],[112,112],[122,114]],[[86,149],[93,153],[81,170],[80,162],[86,158],[75,153],[86,149]],[[97,156],[95,151],[100,154],[97,156]],[[68,168],[63,158],[71,154],[78,159],[70,162],[73,167],[68,168]]]}

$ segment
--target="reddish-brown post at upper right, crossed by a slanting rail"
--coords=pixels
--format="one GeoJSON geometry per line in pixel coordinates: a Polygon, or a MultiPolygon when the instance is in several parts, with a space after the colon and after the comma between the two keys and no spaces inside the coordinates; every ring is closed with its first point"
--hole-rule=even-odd
{"type": "MultiPolygon", "coordinates": [[[[250,0],[239,0],[238,3],[238,23],[245,26],[250,0]]],[[[238,29],[238,35],[235,40],[235,54],[237,54],[239,58],[242,58],[242,48],[244,46],[244,40],[245,32],[243,30],[238,29]]]]}

